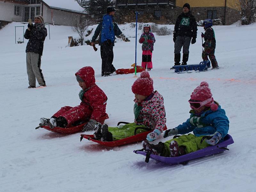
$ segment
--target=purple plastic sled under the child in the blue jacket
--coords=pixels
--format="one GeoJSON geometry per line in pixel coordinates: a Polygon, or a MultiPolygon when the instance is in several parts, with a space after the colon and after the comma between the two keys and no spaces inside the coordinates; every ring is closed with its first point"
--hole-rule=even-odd
{"type": "Polygon", "coordinates": [[[152,154],[148,154],[145,151],[140,151],[140,150],[134,150],[133,152],[136,154],[140,154],[140,155],[144,155],[146,156],[146,160],[145,162],[148,163],[149,158],[157,160],[157,161],[161,161],[163,163],[167,163],[167,164],[185,164],[187,163],[189,160],[192,159],[196,159],[199,157],[205,157],[208,155],[213,155],[216,153],[221,153],[224,152],[225,150],[229,150],[227,149],[227,146],[234,143],[233,138],[231,137],[231,135],[227,134],[224,137],[224,141],[220,142],[214,146],[209,146],[206,147],[204,149],[201,150],[197,150],[195,152],[192,153],[188,153],[186,155],[182,155],[179,157],[162,157],[162,156],[158,156],[158,155],[152,155],[152,154]]]}

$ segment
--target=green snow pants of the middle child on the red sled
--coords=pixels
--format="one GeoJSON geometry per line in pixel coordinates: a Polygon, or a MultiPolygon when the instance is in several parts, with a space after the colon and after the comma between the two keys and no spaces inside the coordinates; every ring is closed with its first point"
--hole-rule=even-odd
{"type": "MultiPolygon", "coordinates": [[[[124,139],[126,137],[130,137],[134,135],[134,131],[137,127],[145,127],[145,125],[136,125],[135,123],[128,123],[124,126],[118,126],[118,127],[108,127],[108,132],[112,134],[113,141],[124,139]]],[[[147,130],[145,129],[138,129],[136,131],[136,134],[143,133],[147,130]]]]}

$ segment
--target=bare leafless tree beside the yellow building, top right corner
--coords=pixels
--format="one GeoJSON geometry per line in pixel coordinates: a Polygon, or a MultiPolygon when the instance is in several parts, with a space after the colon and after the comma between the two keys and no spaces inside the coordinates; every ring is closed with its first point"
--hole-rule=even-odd
{"type": "Polygon", "coordinates": [[[255,22],[256,1],[255,0],[239,0],[241,7],[241,24],[249,25],[255,22]]]}

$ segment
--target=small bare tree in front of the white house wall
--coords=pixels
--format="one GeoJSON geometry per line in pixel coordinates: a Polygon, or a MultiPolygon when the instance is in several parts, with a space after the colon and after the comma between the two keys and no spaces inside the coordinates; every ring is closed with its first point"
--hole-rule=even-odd
{"type": "Polygon", "coordinates": [[[89,25],[91,25],[91,21],[85,17],[80,17],[80,19],[79,17],[74,17],[71,20],[72,31],[78,33],[81,39],[81,45],[83,45],[84,42],[84,31],[88,28],[89,25]]]}

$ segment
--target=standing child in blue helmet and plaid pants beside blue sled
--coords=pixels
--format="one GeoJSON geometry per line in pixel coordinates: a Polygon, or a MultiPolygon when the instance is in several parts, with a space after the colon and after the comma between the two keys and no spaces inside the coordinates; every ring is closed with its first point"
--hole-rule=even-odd
{"type": "Polygon", "coordinates": [[[214,52],[216,48],[216,40],[214,30],[212,28],[212,19],[205,19],[203,22],[205,33],[201,34],[202,38],[204,38],[204,43],[202,46],[204,47],[204,51],[202,53],[202,58],[204,61],[208,61],[208,56],[212,62],[212,69],[218,69],[218,63],[215,58],[214,52]]]}

